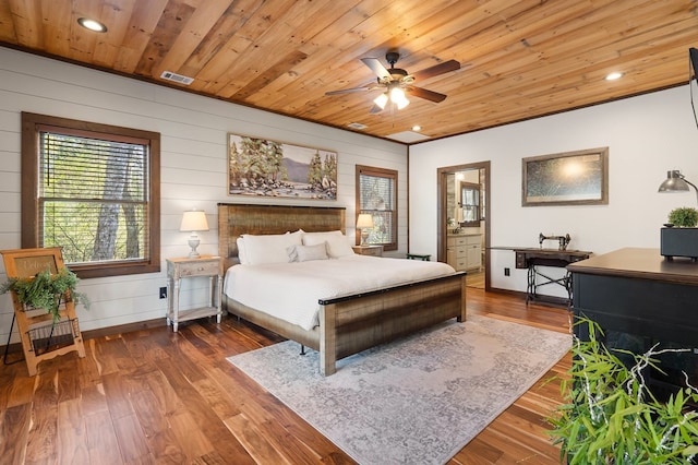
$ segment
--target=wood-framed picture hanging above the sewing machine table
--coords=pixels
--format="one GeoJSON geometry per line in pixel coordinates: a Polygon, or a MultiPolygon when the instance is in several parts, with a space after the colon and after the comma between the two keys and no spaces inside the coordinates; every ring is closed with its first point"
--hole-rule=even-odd
{"type": "Polygon", "coordinates": [[[522,159],[521,205],[606,205],[609,147],[522,159]]]}

